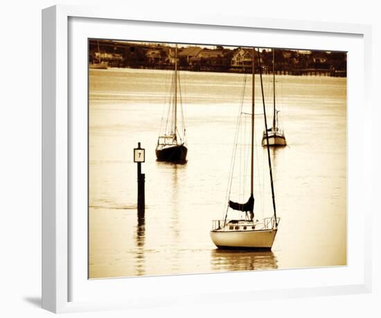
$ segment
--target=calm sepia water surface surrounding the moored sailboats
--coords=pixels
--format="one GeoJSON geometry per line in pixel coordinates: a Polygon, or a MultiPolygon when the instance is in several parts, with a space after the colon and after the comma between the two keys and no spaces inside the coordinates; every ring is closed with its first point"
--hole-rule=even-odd
{"type": "MultiPolygon", "coordinates": [[[[305,268],[346,264],[346,79],[276,78],[289,146],[272,149],[277,214],[272,252],[217,250],[211,221],[227,206],[231,153],[245,75],[181,72],[188,162],[157,162],[154,148],[170,71],[89,73],[89,277],[305,268]],[[136,212],[133,149],[145,148],[145,219],[136,212]]],[[[271,76],[265,95],[271,115],[271,76]]],[[[251,76],[244,111],[250,112],[251,76]]],[[[256,105],[260,104],[256,77],[256,105]]],[[[245,116],[244,116],[245,118],[245,116]]],[[[256,218],[272,216],[267,158],[256,117],[256,218]]],[[[248,124],[242,127],[248,128],[248,124]]],[[[242,133],[248,137],[249,130],[242,133]]],[[[232,199],[246,200],[240,140],[232,199]]],[[[249,173],[246,170],[247,174],[249,173]]],[[[240,214],[231,214],[239,217],[240,214]]]]}

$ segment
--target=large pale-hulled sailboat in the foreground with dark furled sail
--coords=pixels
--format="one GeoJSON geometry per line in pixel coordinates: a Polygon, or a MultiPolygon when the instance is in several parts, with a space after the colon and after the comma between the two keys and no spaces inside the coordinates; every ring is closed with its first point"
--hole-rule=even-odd
{"type": "MultiPolygon", "coordinates": [[[[274,216],[263,218],[258,221],[254,219],[254,53],[253,48],[253,61],[252,61],[252,97],[251,97],[251,191],[249,200],[246,203],[235,203],[231,200],[228,202],[227,212],[223,220],[213,221],[212,230],[210,232],[213,243],[219,248],[238,248],[238,249],[259,249],[271,250],[278,231],[280,218],[276,217],[274,185],[272,180],[272,167],[271,158],[269,153],[269,146],[267,146],[267,158],[269,162],[269,176],[272,189],[272,205],[274,209],[274,216]],[[230,219],[227,216],[229,208],[245,212],[243,219],[230,219]]],[[[265,99],[263,97],[263,81],[262,71],[260,67],[260,58],[258,50],[258,63],[260,68],[260,86],[262,89],[263,111],[265,115],[266,138],[269,140],[269,133],[267,133],[266,123],[266,110],[265,99]]],[[[267,142],[267,145],[269,142],[267,142]]]]}

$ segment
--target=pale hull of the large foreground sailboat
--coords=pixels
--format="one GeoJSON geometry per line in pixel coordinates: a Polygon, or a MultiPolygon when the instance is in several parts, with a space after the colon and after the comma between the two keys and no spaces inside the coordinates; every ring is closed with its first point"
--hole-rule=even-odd
{"type": "Polygon", "coordinates": [[[211,231],[211,239],[218,248],[271,250],[276,231],[211,231]]]}

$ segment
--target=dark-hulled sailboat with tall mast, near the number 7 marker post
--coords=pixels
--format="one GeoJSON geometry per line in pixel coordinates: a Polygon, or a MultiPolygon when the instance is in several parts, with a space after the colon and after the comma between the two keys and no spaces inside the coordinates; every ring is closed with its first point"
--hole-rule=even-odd
{"type": "MultiPolygon", "coordinates": [[[[184,163],[186,162],[186,148],[184,116],[182,118],[182,131],[179,130],[177,120],[177,44],[175,48],[175,72],[172,81],[172,104],[166,118],[166,131],[157,139],[156,158],[158,161],[184,163]]],[[[182,111],[182,109],[181,109],[182,111]]]]}

